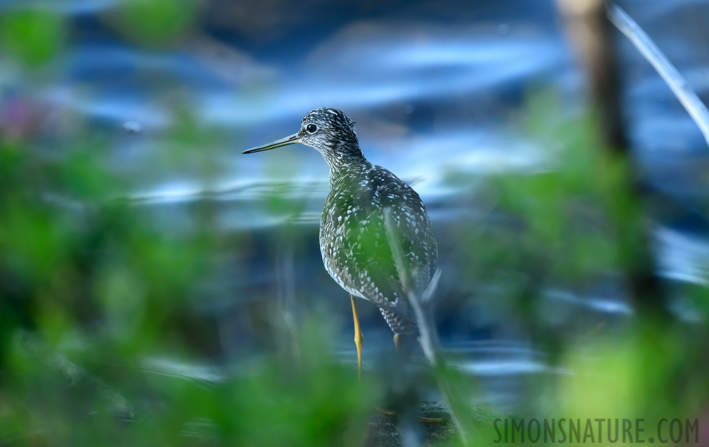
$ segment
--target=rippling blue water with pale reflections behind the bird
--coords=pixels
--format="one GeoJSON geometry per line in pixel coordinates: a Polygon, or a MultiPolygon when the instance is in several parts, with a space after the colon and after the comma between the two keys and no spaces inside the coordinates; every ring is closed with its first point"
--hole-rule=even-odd
{"type": "MultiPolygon", "coordinates": [[[[318,253],[320,207],[328,191],[325,162],[313,149],[299,146],[252,156],[240,152],[295,132],[312,108],[341,108],[357,121],[369,160],[410,182],[427,203],[445,278],[455,283],[443,293],[465,294],[469,285],[460,283],[461,273],[447,260],[455,245],[454,233],[447,230],[475,225],[489,218],[489,210],[462,204],[463,190],[449,181],[450,173],[476,179],[554,169],[547,148],[518,132],[510,117],[537,86],[554,86],[563,111],[579,113],[584,76],[550,1],[406,1],[326,9],[295,3],[264,12],[272,23],[264,18],[230,25],[227,17],[207,9],[194,33],[156,50],[130,44],[106,25],[101,14],[111,12],[113,1],[56,1],[52,9],[66,15],[72,27],[60,75],[28,84],[7,69],[0,86],[31,91],[52,111],[78,116],[110,135],[113,169],[135,175],[135,206],[150,208],[166,231],[189,229],[194,217],[189,203],[206,196],[220,204],[218,222],[225,231],[250,232],[257,245],[267,246],[285,224],[306,235],[312,247],[298,249],[297,259],[294,249],[285,247],[276,255],[271,250],[256,256],[250,266],[225,262],[228,273],[213,287],[231,298],[195,303],[199,312],[214,317],[225,352],[240,351],[242,306],[275,292],[286,315],[295,319],[296,296],[308,296],[314,308],[325,306],[324,315],[340,334],[335,350],[342,361],[354,361],[349,300],[325,274],[318,253]],[[303,13],[289,20],[285,16],[293,9],[303,13]],[[140,169],[155,157],[180,105],[218,136],[213,148],[220,157],[218,175],[208,181],[167,167],[140,169]],[[298,212],[264,208],[263,200],[274,194],[297,203],[298,212]]],[[[18,4],[26,3],[0,1],[0,8],[18,4]]],[[[707,16],[709,3],[620,4],[708,101],[709,47],[698,18],[707,16]]],[[[620,36],[618,50],[636,161],[650,191],[662,206],[675,210],[671,218],[654,222],[659,273],[670,281],[706,284],[709,232],[703,204],[709,150],[669,88],[620,36]]],[[[590,312],[589,318],[598,320],[632,315],[623,293],[612,286],[584,296],[549,290],[544,299],[569,315],[590,312]]],[[[373,306],[362,307],[367,352],[376,358],[377,352],[393,349],[391,334],[373,306]]],[[[674,310],[688,322],[700,318],[681,303],[674,310]]],[[[484,402],[513,409],[524,398],[520,384],[525,378],[572,373],[546,366],[524,334],[490,314],[478,303],[457,312],[457,332],[450,324],[441,328],[457,366],[486,385],[484,402]]],[[[144,367],[220,380],[218,372],[169,359],[147,359],[144,367]]]]}

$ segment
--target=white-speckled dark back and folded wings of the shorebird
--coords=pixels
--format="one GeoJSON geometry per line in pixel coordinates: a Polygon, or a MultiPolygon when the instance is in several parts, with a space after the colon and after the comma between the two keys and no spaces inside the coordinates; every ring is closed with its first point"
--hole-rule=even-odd
{"type": "Polygon", "coordinates": [[[435,271],[437,247],[418,193],[379,166],[345,173],[333,182],[321,224],[323,261],[335,281],[414,321],[390,240],[398,243],[411,288],[422,292],[435,271]]]}

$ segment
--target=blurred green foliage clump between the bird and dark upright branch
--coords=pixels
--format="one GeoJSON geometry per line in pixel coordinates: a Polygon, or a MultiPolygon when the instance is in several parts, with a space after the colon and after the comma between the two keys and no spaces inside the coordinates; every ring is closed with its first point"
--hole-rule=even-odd
{"type": "Polygon", "coordinates": [[[545,306],[546,290],[592,293],[598,283],[628,270],[628,246],[644,243],[623,241],[618,230],[635,225],[642,234],[645,225],[627,160],[602,149],[592,116],[559,115],[558,104],[551,91],[528,96],[514,120],[518,132],[544,148],[545,166],[490,176],[484,188],[469,182],[471,197],[490,214],[460,234],[465,244],[455,252],[471,283],[501,287],[496,301],[503,312],[542,332],[569,322],[545,306]]]}

